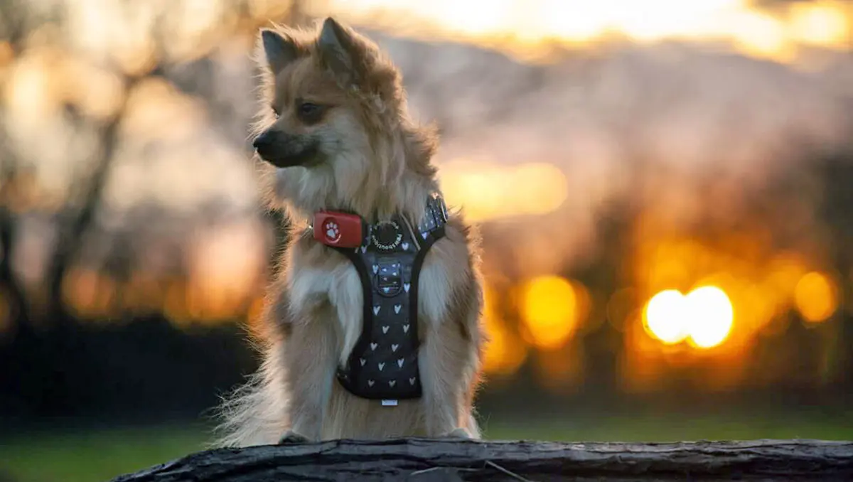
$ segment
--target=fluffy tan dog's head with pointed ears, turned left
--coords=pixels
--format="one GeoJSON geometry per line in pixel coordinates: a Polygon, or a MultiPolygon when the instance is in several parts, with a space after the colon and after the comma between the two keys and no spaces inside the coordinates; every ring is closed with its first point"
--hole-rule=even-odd
{"type": "Polygon", "coordinates": [[[253,146],[272,206],[382,211],[411,159],[432,174],[432,133],[409,124],[401,76],[368,38],[331,18],[313,31],[262,29],[258,63],[253,146]]]}

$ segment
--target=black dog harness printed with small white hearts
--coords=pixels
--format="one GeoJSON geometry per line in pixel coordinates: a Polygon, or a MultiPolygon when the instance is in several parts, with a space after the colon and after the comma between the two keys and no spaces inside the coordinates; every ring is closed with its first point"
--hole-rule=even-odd
{"type": "Polygon", "coordinates": [[[355,266],[364,293],[362,334],[337,374],[339,383],[357,397],[388,405],[421,397],[418,279],[447,220],[444,200],[432,195],[420,225],[395,215],[390,222],[366,225],[360,247],[334,247],[355,266]]]}

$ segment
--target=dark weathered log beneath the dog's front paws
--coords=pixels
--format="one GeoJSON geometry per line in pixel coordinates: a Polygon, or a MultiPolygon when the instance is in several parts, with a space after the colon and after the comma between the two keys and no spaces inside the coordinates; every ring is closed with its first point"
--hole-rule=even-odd
{"type": "Polygon", "coordinates": [[[853,442],[666,444],[401,438],[207,450],[113,482],[853,480],[853,442]]]}

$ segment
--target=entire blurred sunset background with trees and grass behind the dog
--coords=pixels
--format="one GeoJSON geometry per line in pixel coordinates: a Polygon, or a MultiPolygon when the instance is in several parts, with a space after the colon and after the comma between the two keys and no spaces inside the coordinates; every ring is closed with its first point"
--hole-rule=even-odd
{"type": "Polygon", "coordinates": [[[853,438],[853,4],[0,0],[0,480],[208,440],[286,219],[250,59],[335,15],[484,236],[489,438],[853,438]]]}

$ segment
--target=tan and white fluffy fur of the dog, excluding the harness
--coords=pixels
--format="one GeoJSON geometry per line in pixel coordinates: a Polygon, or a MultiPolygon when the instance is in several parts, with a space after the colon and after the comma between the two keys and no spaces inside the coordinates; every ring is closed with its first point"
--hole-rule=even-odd
{"type": "Polygon", "coordinates": [[[293,231],[267,293],[262,366],[223,404],[218,444],[274,444],[285,434],[290,442],[479,438],[479,240],[460,213],[451,212],[421,270],[423,397],[397,407],[357,398],[335,380],[362,331],[362,286],[351,262],[315,241],[307,225],[320,209],[350,209],[370,222],[400,212],[420,223],[427,195],[438,191],[434,131],[409,119],[392,62],[334,20],[313,30],[264,29],[257,54],[263,82],[253,136],[282,132],[290,151],[308,152],[311,142],[317,150],[307,166],[276,167],[255,156],[268,205],[287,210],[293,231]],[[329,106],[322,121],[305,123],[293,113],[305,100],[329,106]]]}

